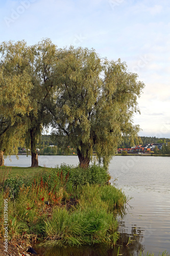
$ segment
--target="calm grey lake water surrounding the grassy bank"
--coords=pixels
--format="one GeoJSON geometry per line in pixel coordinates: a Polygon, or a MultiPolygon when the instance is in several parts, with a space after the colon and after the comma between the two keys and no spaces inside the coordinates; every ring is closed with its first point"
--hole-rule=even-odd
{"type": "MultiPolygon", "coordinates": [[[[30,166],[31,157],[7,158],[8,166],[30,166]]],[[[61,163],[78,165],[77,156],[40,156],[39,165],[55,167],[61,163]]],[[[110,162],[111,183],[122,188],[132,199],[127,204],[124,218],[118,217],[119,253],[137,255],[144,252],[170,252],[170,157],[115,156],[110,162]],[[129,237],[133,241],[126,246],[129,237]]],[[[117,248],[83,247],[69,251],[54,249],[43,255],[117,255],[117,248]]]]}

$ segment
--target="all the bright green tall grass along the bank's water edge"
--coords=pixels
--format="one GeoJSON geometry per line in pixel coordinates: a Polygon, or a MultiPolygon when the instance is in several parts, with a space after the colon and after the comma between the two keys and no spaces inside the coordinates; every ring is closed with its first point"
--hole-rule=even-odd
{"type": "Polygon", "coordinates": [[[112,211],[116,207],[124,207],[125,195],[113,186],[87,184],[80,191],[79,204],[74,211],[57,208],[52,222],[45,223],[45,232],[52,239],[46,242],[46,246],[102,242],[115,244],[118,226],[112,211]],[[112,197],[110,204],[109,197],[112,197]]]}

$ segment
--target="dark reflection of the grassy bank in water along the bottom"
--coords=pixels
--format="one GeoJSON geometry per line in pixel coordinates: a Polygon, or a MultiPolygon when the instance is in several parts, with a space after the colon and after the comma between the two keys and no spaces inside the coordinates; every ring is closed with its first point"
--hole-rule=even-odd
{"type": "MultiPolygon", "coordinates": [[[[124,230],[125,223],[121,221],[120,226],[122,231],[124,230]]],[[[81,246],[81,247],[52,247],[43,248],[36,247],[37,253],[40,256],[117,256],[119,254],[131,256],[137,255],[137,252],[144,250],[141,241],[143,239],[142,230],[135,225],[132,226],[131,234],[126,232],[120,233],[119,240],[117,244],[113,247],[106,245],[95,245],[95,246],[81,246]],[[128,241],[134,240],[130,244],[128,241]]]]}

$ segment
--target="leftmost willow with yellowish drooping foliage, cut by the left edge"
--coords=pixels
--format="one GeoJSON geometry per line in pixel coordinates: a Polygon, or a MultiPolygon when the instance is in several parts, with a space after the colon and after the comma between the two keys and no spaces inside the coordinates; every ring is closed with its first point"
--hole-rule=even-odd
{"type": "Polygon", "coordinates": [[[29,93],[32,83],[26,72],[20,75],[13,74],[12,62],[9,75],[9,66],[3,56],[0,67],[0,166],[2,166],[4,154],[6,156],[17,154],[17,147],[26,132],[23,117],[31,110],[29,93]]]}

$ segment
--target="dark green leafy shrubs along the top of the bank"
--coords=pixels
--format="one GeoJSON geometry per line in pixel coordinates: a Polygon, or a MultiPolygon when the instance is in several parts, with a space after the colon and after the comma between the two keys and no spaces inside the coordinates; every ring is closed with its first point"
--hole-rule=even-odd
{"type": "Polygon", "coordinates": [[[62,164],[60,167],[49,168],[44,172],[36,174],[33,178],[30,177],[9,177],[4,182],[4,188],[8,187],[10,198],[17,198],[19,189],[22,186],[39,185],[43,188],[47,186],[48,193],[57,193],[60,187],[65,187],[67,191],[81,187],[86,184],[104,185],[110,179],[107,170],[100,165],[90,165],[88,169],[74,167],[71,165],[62,164]]]}

